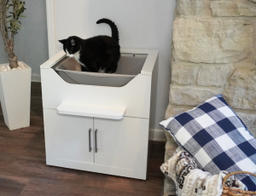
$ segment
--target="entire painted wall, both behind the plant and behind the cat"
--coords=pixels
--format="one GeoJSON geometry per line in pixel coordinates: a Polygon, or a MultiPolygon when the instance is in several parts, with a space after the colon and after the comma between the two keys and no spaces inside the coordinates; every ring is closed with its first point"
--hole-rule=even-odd
{"type": "MultiPolygon", "coordinates": [[[[108,25],[96,25],[96,20],[109,18],[119,27],[122,48],[160,50],[155,105],[152,106],[154,120],[150,122],[156,138],[158,133],[163,134],[158,124],[164,119],[168,104],[175,7],[175,0],[55,0],[58,39],[71,35],[83,38],[110,35],[108,25]]],[[[32,66],[33,75],[38,75],[39,66],[48,59],[45,0],[26,0],[25,15],[26,18],[21,19],[22,29],[15,37],[15,53],[20,61],[32,66]]],[[[0,46],[0,63],[6,63],[8,57],[2,38],[0,46]]]]}

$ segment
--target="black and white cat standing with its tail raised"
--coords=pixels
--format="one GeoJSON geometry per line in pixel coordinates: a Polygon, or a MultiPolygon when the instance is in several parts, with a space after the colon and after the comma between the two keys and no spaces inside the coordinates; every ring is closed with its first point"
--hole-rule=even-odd
{"type": "Polygon", "coordinates": [[[113,21],[101,19],[96,24],[107,23],[112,37],[96,36],[88,39],[72,36],[59,40],[67,56],[79,61],[84,72],[116,72],[120,58],[119,31],[113,21]]]}

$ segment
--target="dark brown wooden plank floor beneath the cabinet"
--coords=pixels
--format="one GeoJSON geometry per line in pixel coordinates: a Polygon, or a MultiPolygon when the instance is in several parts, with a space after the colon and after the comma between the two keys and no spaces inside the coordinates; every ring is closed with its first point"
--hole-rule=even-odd
{"type": "Polygon", "coordinates": [[[40,84],[32,84],[31,126],[8,130],[0,110],[0,196],[160,196],[163,142],[150,142],[147,181],[45,164],[40,84]]]}

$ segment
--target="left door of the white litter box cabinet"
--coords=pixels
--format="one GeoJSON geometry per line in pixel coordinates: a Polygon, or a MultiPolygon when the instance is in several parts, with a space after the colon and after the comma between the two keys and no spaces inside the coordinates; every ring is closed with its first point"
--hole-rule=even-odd
{"type": "Polygon", "coordinates": [[[47,157],[93,163],[94,153],[89,149],[90,141],[92,147],[93,118],[44,109],[44,133],[47,157]]]}

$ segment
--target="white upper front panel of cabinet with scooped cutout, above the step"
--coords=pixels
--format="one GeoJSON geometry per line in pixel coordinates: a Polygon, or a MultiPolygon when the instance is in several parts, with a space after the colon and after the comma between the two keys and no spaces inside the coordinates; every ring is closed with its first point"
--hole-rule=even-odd
{"type": "Polygon", "coordinates": [[[151,76],[138,74],[123,87],[67,84],[53,69],[41,69],[43,107],[61,103],[125,107],[126,117],[149,118],[151,76]],[[53,82],[54,81],[54,82],[53,82]]]}

